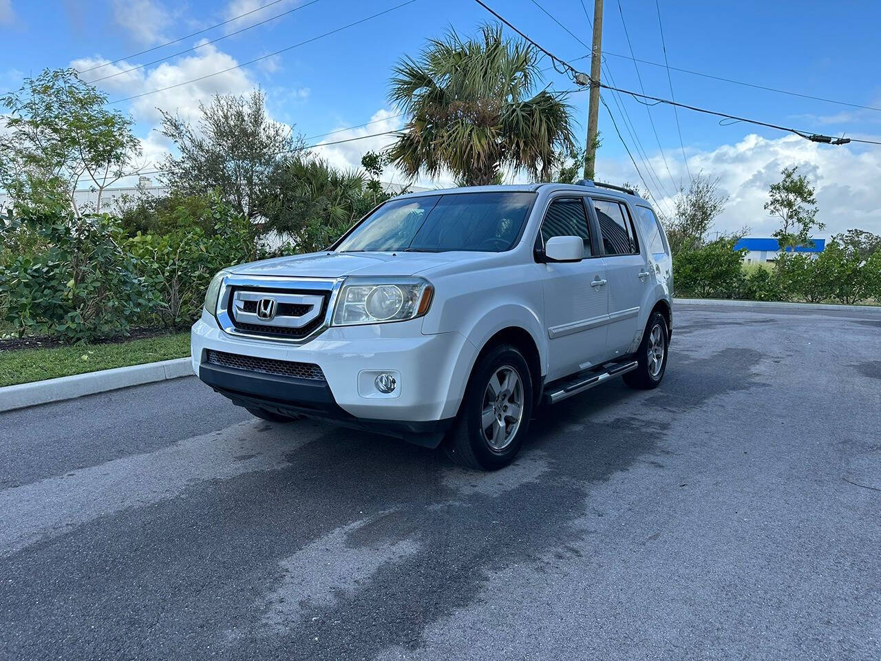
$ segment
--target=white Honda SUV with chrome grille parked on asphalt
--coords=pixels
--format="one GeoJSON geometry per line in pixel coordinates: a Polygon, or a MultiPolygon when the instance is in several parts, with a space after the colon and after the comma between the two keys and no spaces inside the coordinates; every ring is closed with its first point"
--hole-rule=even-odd
{"type": "Polygon", "coordinates": [[[618,375],[661,382],[671,271],[663,227],[626,189],[402,195],[327,250],[220,271],[193,368],[267,420],[331,420],[500,468],[539,405],[618,375]]]}

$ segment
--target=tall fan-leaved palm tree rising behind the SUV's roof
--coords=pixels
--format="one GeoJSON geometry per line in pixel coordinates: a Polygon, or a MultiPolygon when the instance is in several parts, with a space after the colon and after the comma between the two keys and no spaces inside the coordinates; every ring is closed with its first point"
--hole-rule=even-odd
{"type": "Polygon", "coordinates": [[[509,170],[547,179],[559,152],[574,149],[570,107],[541,81],[538,52],[485,25],[462,41],[451,31],[418,60],[394,68],[389,100],[410,115],[389,158],[405,175],[452,172],[468,185],[500,182],[509,170]]]}

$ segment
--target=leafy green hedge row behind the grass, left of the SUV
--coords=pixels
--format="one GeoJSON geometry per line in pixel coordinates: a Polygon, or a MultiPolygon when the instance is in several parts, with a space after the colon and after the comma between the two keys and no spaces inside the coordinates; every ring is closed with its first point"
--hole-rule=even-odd
{"type": "Polygon", "coordinates": [[[19,336],[91,342],[132,326],[183,328],[199,314],[214,273],[267,256],[253,224],[224,204],[214,227],[126,234],[107,214],[67,212],[3,220],[0,315],[19,336]]]}

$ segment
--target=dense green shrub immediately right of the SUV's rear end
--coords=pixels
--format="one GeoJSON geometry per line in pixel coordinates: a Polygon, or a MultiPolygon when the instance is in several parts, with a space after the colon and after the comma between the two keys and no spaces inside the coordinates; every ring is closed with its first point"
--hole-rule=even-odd
{"type": "Polygon", "coordinates": [[[700,298],[736,296],[743,289],[741,262],[744,250],[735,250],[734,243],[734,238],[722,237],[675,255],[673,283],[677,295],[700,298]]]}

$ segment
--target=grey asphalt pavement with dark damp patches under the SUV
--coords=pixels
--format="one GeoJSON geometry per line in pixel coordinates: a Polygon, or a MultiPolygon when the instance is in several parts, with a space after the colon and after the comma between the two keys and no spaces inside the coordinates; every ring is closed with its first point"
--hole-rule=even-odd
{"type": "Polygon", "coordinates": [[[881,657],[881,316],[675,314],[489,474],[195,378],[0,413],[0,658],[881,657]]]}

